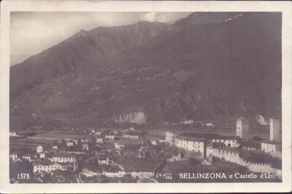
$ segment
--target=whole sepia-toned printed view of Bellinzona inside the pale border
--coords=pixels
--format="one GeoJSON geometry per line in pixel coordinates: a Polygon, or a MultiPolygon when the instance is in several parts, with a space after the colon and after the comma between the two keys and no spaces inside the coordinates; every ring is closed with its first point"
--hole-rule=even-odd
{"type": "Polygon", "coordinates": [[[281,11],[11,11],[9,184],[283,183],[282,31],[281,11]]]}

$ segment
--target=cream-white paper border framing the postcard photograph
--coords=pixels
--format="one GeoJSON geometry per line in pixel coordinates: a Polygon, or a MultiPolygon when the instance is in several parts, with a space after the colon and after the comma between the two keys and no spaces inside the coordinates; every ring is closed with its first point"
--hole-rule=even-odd
{"type": "Polygon", "coordinates": [[[290,1],[14,1],[0,6],[0,193],[233,193],[291,192],[292,2],[290,1]],[[282,12],[282,183],[9,183],[9,27],[11,11],[282,12]]]}

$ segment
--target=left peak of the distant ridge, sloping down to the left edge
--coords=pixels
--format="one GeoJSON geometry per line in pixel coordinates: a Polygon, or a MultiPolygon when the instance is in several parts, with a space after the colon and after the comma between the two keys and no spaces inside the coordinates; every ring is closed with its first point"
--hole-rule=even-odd
{"type": "Polygon", "coordinates": [[[10,97],[107,58],[85,30],[10,68],[10,97]]]}

